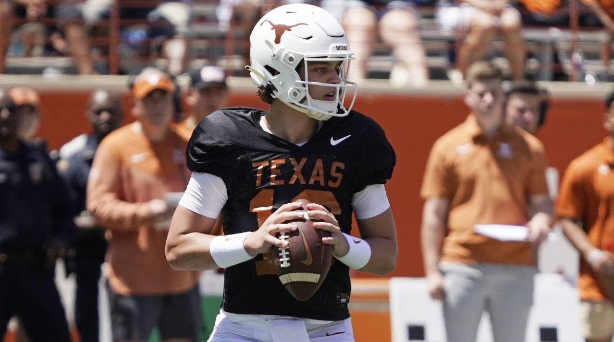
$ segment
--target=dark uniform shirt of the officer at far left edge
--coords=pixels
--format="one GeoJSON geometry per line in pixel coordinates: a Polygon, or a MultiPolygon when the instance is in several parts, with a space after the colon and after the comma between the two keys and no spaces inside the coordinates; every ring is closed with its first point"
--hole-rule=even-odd
{"type": "Polygon", "coordinates": [[[71,198],[49,155],[20,142],[0,149],[0,250],[39,248],[51,238],[70,243],[71,198]]]}

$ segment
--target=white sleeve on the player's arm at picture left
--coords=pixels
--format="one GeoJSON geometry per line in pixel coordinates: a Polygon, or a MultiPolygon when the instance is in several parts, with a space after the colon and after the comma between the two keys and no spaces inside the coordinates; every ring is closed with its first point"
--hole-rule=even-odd
{"type": "Polygon", "coordinates": [[[226,201],[226,184],[210,173],[192,173],[179,205],[202,216],[217,219],[226,201]]]}

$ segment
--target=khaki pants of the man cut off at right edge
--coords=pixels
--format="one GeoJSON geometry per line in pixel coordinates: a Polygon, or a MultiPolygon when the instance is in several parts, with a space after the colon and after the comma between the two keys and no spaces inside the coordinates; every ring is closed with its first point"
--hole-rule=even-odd
{"type": "Polygon", "coordinates": [[[608,300],[580,303],[582,334],[587,340],[604,340],[614,334],[614,305],[608,300]]]}

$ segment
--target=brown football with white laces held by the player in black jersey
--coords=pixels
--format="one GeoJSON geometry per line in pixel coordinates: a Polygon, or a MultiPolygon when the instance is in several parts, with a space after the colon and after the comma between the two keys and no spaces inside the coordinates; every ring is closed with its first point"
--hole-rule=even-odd
{"type": "MultiPolygon", "coordinates": [[[[310,203],[307,200],[299,201],[310,203]]],[[[305,204],[297,211],[305,211],[305,204]]],[[[314,228],[314,221],[307,217],[285,223],[293,222],[298,226],[296,231],[277,235],[279,239],[288,241],[288,247],[273,246],[271,259],[279,281],[284,284],[288,292],[297,300],[308,300],[322,285],[330,268],[333,249],[330,244],[322,243],[322,238],[330,236],[330,233],[314,228]]]]}

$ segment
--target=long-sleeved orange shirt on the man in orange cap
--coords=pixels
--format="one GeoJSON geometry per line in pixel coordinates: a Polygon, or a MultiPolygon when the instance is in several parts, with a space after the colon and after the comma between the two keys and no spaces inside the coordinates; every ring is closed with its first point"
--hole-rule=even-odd
{"type": "Polygon", "coordinates": [[[138,123],[103,139],[88,181],[87,207],[109,231],[109,284],[123,295],[178,293],[195,286],[197,273],[171,269],[165,257],[168,231],[146,218],[147,201],[182,192],[190,172],[187,142],[174,129],[150,142],[138,123]]]}

